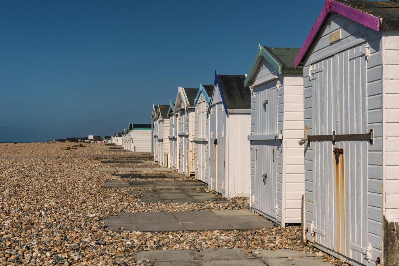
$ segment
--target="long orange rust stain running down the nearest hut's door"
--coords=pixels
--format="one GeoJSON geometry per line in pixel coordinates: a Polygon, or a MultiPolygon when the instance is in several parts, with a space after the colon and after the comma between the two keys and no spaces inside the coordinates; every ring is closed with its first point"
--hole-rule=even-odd
{"type": "Polygon", "coordinates": [[[337,252],[346,255],[344,149],[334,148],[337,252]]]}

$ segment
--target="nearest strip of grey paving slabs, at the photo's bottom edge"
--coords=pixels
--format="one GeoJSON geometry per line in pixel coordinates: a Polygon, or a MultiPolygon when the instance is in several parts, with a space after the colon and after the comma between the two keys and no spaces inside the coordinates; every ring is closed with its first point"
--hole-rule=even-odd
{"type": "Polygon", "coordinates": [[[154,250],[134,253],[135,260],[148,259],[154,266],[328,266],[316,255],[296,250],[245,250],[233,248],[203,250],[154,250]],[[255,254],[260,252],[260,254],[255,254]],[[288,260],[291,257],[292,260],[288,260]]]}

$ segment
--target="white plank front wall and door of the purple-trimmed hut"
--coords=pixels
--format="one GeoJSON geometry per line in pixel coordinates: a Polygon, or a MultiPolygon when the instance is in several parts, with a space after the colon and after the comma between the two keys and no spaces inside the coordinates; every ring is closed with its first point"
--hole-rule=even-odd
{"type": "Polygon", "coordinates": [[[363,134],[374,129],[372,145],[366,141],[340,141],[335,145],[312,142],[310,147],[305,144],[304,228],[310,230],[313,221],[316,232],[315,239],[310,233],[306,237],[351,264],[374,265],[377,257],[381,258],[382,242],[381,32],[332,12],[304,62],[305,138],[332,134],[333,130],[336,134],[363,134]],[[330,45],[330,33],[339,29],[341,40],[330,45]],[[354,57],[365,50],[366,41],[370,45],[369,59],[365,55],[354,57]],[[322,71],[310,79],[309,65],[312,69],[322,67],[322,71]],[[344,209],[337,206],[334,148],[344,150],[339,165],[344,173],[344,209]],[[340,235],[338,215],[345,215],[340,235]],[[368,243],[372,246],[370,264],[356,249],[365,249],[368,243]]]}

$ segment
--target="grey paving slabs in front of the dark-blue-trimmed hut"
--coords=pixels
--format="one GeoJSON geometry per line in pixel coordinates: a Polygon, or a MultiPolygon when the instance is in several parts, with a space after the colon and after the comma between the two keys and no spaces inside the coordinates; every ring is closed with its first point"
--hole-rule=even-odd
{"type": "Polygon", "coordinates": [[[148,203],[203,203],[205,201],[227,201],[219,195],[213,195],[195,189],[161,189],[157,191],[140,191],[136,194],[144,193],[140,199],[148,203]]]}

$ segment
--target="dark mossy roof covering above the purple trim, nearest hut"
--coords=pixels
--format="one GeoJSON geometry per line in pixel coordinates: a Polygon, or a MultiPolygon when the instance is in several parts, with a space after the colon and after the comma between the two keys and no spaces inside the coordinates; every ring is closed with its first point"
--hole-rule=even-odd
{"type": "Polygon", "coordinates": [[[383,29],[399,28],[399,3],[393,1],[336,0],[337,2],[382,19],[383,29]]]}

